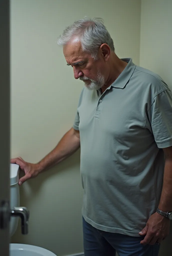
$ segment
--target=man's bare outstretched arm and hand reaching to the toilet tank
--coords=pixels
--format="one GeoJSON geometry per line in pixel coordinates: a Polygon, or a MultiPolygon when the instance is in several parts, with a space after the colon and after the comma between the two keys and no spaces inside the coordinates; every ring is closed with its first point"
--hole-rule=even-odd
{"type": "Polygon", "coordinates": [[[36,177],[40,172],[47,170],[56,164],[62,162],[67,157],[76,152],[80,147],[79,131],[71,128],[60,140],[57,146],[46,155],[39,163],[32,164],[25,162],[21,157],[11,159],[11,163],[16,163],[25,172],[19,180],[19,185],[24,183],[27,179],[36,177]]]}

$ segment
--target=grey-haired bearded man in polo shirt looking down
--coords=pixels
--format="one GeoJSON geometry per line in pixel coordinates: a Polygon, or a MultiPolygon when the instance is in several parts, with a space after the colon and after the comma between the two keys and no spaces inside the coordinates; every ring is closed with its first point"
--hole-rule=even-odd
{"type": "Polygon", "coordinates": [[[172,219],[172,93],[117,57],[102,19],[75,22],[58,45],[85,87],[55,149],[37,164],[11,160],[25,171],[19,185],[81,147],[84,255],[157,256],[172,219]]]}

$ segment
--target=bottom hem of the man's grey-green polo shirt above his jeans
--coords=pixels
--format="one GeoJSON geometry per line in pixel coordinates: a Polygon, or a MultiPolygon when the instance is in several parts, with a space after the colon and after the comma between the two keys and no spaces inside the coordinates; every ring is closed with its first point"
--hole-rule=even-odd
{"type": "Polygon", "coordinates": [[[103,225],[99,225],[97,223],[95,223],[94,221],[92,221],[91,219],[89,219],[87,216],[85,216],[82,212],[82,216],[84,218],[84,220],[89,223],[92,227],[105,231],[105,232],[110,232],[110,233],[119,233],[119,234],[123,234],[123,235],[127,235],[127,236],[132,236],[132,237],[140,237],[140,235],[138,234],[138,232],[140,232],[141,230],[138,231],[129,231],[129,230],[125,230],[125,229],[120,229],[120,228],[112,228],[112,227],[106,227],[103,225]]]}

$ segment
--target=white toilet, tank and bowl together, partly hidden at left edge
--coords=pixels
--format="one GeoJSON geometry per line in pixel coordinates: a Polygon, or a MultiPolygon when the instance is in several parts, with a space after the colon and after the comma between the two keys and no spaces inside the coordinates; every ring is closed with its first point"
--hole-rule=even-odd
{"type": "MultiPolygon", "coordinates": [[[[10,164],[10,208],[20,206],[19,197],[19,165],[10,164]]],[[[10,219],[10,236],[13,236],[17,229],[18,217],[11,217],[10,219]]],[[[54,253],[29,244],[18,244],[11,243],[9,245],[9,255],[10,256],[57,256],[54,253]]]]}

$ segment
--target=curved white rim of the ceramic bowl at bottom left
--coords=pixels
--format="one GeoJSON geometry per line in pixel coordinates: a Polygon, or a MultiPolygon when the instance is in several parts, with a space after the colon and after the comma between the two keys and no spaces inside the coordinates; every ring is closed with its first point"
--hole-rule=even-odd
{"type": "Polygon", "coordinates": [[[30,244],[24,244],[24,243],[10,243],[9,244],[9,250],[26,250],[29,252],[37,252],[42,254],[42,256],[57,256],[56,254],[54,254],[53,252],[39,247],[39,246],[34,246],[34,245],[30,245],[30,244]]]}

